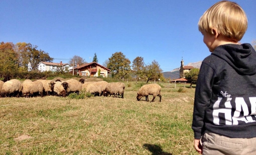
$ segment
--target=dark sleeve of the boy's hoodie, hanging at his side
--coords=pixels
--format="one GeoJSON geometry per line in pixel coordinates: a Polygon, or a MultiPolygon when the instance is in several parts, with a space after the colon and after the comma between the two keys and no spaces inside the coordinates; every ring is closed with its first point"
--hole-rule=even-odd
{"type": "Polygon", "coordinates": [[[195,139],[200,139],[204,132],[205,110],[210,104],[210,99],[212,97],[214,76],[214,69],[203,62],[199,71],[194,97],[192,129],[194,130],[195,139]]]}

